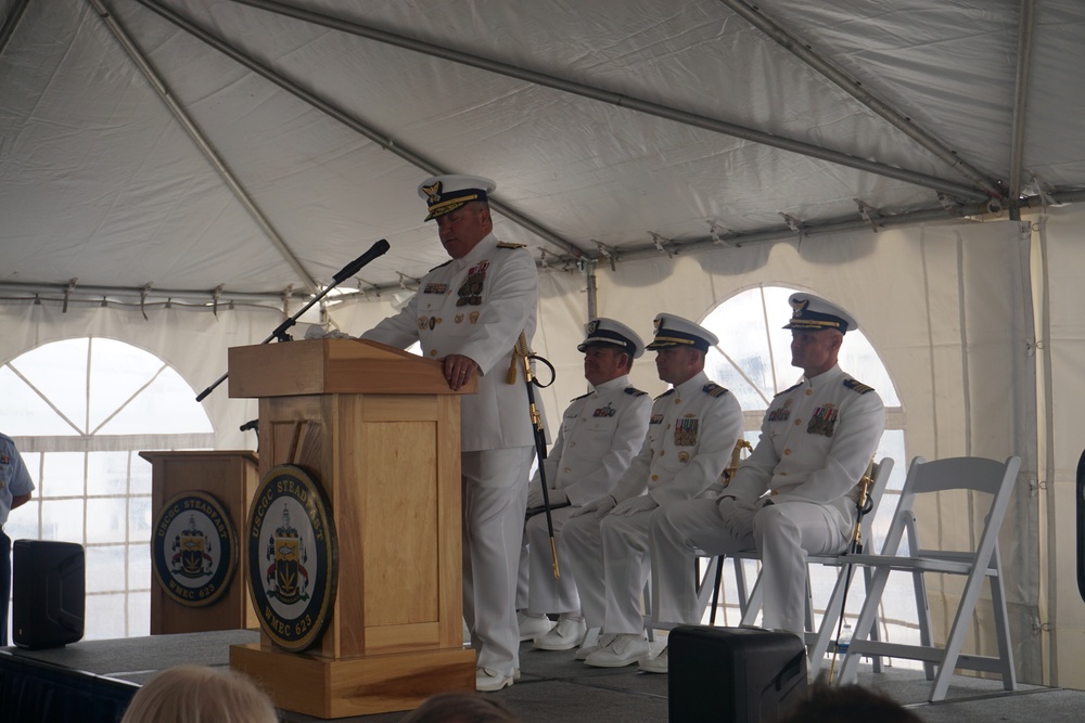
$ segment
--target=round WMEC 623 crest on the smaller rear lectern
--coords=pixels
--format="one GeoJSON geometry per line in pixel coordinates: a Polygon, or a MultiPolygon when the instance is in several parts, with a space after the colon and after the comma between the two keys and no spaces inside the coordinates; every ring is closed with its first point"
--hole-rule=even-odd
{"type": "Polygon", "coordinates": [[[226,507],[206,492],[182,492],[154,520],[151,565],[163,591],[188,607],[218,601],[238,565],[238,538],[226,507]]]}

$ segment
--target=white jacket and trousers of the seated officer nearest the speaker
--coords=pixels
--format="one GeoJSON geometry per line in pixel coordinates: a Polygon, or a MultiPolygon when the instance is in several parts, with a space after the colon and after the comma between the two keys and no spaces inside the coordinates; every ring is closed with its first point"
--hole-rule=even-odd
{"type": "MultiPolygon", "coordinates": [[[[553,577],[546,515],[535,515],[524,526],[527,565],[521,558],[520,572],[528,594],[521,607],[533,612],[579,611],[561,530],[576,507],[609,494],[617,483],[644,441],[651,408],[651,397],[631,387],[629,377],[622,375],[577,397],[565,409],[558,438],[544,462],[551,496],[560,490],[571,505],[550,513],[561,577],[553,577]]],[[[538,473],[531,483],[533,488],[539,485],[538,473]]]]}

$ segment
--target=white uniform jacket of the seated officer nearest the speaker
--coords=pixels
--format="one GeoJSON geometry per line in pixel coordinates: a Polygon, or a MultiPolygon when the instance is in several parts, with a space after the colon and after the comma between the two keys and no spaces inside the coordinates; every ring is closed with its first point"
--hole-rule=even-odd
{"type": "MultiPolygon", "coordinates": [[[[609,493],[644,441],[651,406],[626,375],[574,399],[544,463],[547,486],[577,506],[609,493]]],[[[538,483],[535,473],[532,485],[538,483]]]]}

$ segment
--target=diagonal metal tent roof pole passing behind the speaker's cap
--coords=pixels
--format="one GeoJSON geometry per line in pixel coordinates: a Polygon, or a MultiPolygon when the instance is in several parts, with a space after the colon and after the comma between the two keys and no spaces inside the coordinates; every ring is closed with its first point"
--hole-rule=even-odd
{"type": "MultiPolygon", "coordinates": [[[[94,1],[94,0],[91,0],[94,1]]],[[[393,140],[387,134],[381,132],[380,130],[373,128],[372,126],[363,122],[361,119],[356,118],[343,108],[339,107],[331,101],[328,101],[316,93],[303,88],[299,83],[286,78],[281,73],[273,70],[260,62],[256,61],[254,57],[237,49],[226,40],[217,37],[210,31],[200,27],[194,22],[181,16],[179,13],[175,12],[169,8],[165,8],[157,0],[137,0],[143,7],[154,11],[162,17],[166,18],[174,25],[176,25],[181,30],[184,30],[194,38],[203,41],[204,43],[210,46],[215,50],[219,51],[224,55],[230,57],[234,62],[243,65],[253,73],[259,75],[277,85],[279,88],[283,89],[288,93],[291,93],[295,98],[299,99],[304,103],[317,108],[318,111],[331,116],[335,120],[349,128],[350,130],[368,138],[370,141],[381,146],[385,151],[403,158],[407,163],[411,164],[416,168],[420,168],[427,173],[434,176],[439,176],[443,173],[448,173],[449,171],[442,168],[434,162],[425,158],[424,156],[416,153],[406,145],[393,140]]],[[[516,223],[518,225],[531,231],[535,235],[545,240],[546,242],[552,244],[560,250],[572,254],[576,258],[585,256],[585,250],[577,247],[573,242],[567,238],[563,238],[556,232],[551,231],[544,224],[532,219],[531,217],[518,211],[516,209],[501,203],[496,198],[490,198],[489,205],[500,212],[502,216],[516,223]]],[[[316,292],[314,292],[316,293],[316,292]]]]}

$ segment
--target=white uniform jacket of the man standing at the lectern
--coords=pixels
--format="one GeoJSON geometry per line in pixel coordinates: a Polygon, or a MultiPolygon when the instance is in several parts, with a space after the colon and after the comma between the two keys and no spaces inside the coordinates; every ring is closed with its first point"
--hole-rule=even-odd
{"type": "Polygon", "coordinates": [[[511,385],[507,374],[521,332],[531,345],[537,307],[538,272],[531,254],[498,244],[489,234],[463,258],[425,274],[407,306],[361,338],[401,349],[419,340],[427,359],[470,357],[481,376],[477,393],[460,399],[461,449],[533,447],[523,370],[511,385]]]}

